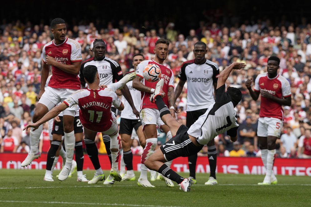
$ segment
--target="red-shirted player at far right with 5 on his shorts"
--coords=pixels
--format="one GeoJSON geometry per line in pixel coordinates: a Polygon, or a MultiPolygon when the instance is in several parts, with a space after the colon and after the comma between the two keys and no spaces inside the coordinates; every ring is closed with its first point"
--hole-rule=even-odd
{"type": "Polygon", "coordinates": [[[282,105],[291,105],[290,84],[287,79],[278,74],[279,64],[280,59],[278,57],[269,57],[268,72],[257,76],[254,91],[251,88],[252,80],[245,82],[249,94],[255,101],[261,94],[257,135],[261,159],[267,172],[264,181],[258,185],[277,184],[277,179],[272,171],[275,142],[280,137],[283,126],[284,111],[282,105]]]}

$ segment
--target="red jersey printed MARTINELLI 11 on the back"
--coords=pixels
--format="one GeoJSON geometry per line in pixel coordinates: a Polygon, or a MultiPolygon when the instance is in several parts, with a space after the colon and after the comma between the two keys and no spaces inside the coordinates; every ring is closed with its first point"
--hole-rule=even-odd
{"type": "Polygon", "coordinates": [[[111,105],[118,108],[121,100],[111,89],[82,89],[64,101],[67,106],[79,105],[81,124],[94,132],[108,130],[113,122],[111,105]]]}

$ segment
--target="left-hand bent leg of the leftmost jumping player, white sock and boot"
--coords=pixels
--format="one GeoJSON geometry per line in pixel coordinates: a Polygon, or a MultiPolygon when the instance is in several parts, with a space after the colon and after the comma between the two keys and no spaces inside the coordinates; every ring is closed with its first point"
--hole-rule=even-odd
{"type": "MultiPolygon", "coordinates": [[[[36,123],[40,120],[47,112],[49,108],[42,103],[38,103],[35,109],[35,112],[32,117],[32,123],[36,123]]],[[[30,129],[30,152],[28,153],[26,159],[22,162],[21,166],[25,167],[30,165],[30,163],[41,156],[41,153],[38,150],[38,144],[40,135],[42,133],[42,125],[33,131],[33,128],[30,129]]]]}

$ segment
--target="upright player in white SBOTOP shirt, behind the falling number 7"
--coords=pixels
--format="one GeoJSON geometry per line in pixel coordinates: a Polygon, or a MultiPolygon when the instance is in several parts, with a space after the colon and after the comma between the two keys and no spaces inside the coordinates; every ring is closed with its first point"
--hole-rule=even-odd
{"type": "MultiPolygon", "coordinates": [[[[206,44],[204,42],[196,42],[193,49],[194,60],[189,60],[181,65],[179,72],[179,82],[175,89],[175,102],[187,82],[187,116],[186,127],[190,127],[195,121],[203,115],[207,106],[213,103],[213,86],[216,93],[217,77],[219,75],[218,65],[210,60],[205,59],[207,53],[206,44]]],[[[177,109],[177,106],[175,106],[177,109]]],[[[216,159],[217,151],[214,139],[207,143],[208,160],[210,164],[210,178],[205,185],[215,185],[216,180],[216,159]]],[[[188,157],[188,165],[190,176],[193,183],[195,180],[195,167],[197,154],[188,157]]]]}

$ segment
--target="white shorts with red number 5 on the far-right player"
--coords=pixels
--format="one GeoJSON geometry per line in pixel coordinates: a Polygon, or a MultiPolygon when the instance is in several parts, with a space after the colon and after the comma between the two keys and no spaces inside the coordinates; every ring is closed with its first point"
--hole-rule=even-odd
{"type": "Polygon", "coordinates": [[[258,137],[280,137],[283,121],[278,118],[260,117],[258,119],[258,137]]]}

